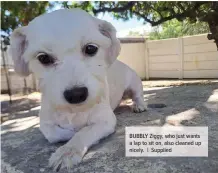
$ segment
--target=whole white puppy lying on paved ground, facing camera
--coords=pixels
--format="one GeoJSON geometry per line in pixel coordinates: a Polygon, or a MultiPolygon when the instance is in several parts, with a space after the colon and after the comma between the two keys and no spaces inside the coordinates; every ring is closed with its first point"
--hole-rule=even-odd
{"type": "Polygon", "coordinates": [[[41,15],[13,32],[15,70],[40,81],[41,132],[51,143],[69,140],[49,160],[55,169],[79,163],[114,132],[113,110],[125,93],[135,112],[146,110],[141,80],[116,60],[119,52],[115,28],[79,9],[41,15]]]}

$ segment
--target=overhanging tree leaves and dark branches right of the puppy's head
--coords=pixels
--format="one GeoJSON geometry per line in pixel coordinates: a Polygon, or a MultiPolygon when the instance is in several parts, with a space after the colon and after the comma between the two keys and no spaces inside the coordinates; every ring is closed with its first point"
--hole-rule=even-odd
{"type": "MultiPolygon", "coordinates": [[[[82,6],[83,3],[85,2],[80,2],[79,5],[82,6]]],[[[74,3],[72,7],[76,4],[74,3]]],[[[218,49],[218,1],[98,1],[89,3],[89,5],[92,5],[92,8],[90,7],[87,11],[92,10],[95,15],[111,12],[114,18],[124,21],[136,16],[152,26],[158,26],[172,19],[180,22],[185,20],[188,23],[197,23],[197,25],[201,25],[198,24],[199,21],[206,22],[211,32],[207,38],[215,40],[218,49]]],[[[169,35],[176,37],[180,34],[176,33],[173,28],[169,27],[168,30],[171,34],[165,33],[165,37],[169,35]]],[[[195,30],[189,30],[189,32],[196,33],[195,30]]],[[[158,35],[157,32],[156,35],[158,35]]]]}

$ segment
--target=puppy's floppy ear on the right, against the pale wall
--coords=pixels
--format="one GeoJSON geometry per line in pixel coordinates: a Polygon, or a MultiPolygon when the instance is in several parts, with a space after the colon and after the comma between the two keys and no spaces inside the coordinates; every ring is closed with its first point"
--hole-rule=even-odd
{"type": "Polygon", "coordinates": [[[106,37],[111,39],[111,46],[108,50],[108,63],[112,64],[118,57],[121,47],[120,41],[116,37],[116,29],[114,26],[104,20],[95,18],[98,22],[99,31],[106,37]]]}

